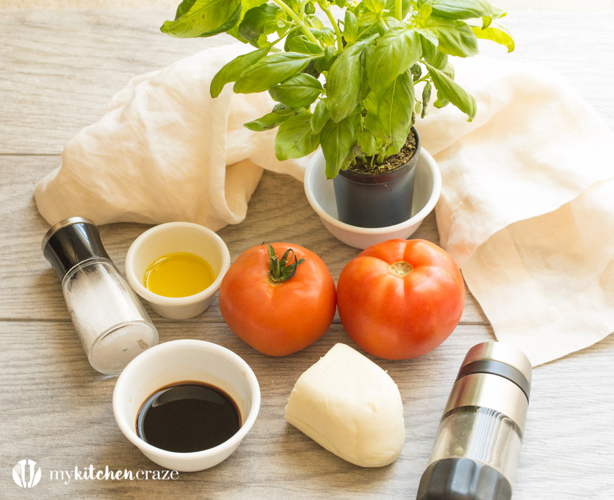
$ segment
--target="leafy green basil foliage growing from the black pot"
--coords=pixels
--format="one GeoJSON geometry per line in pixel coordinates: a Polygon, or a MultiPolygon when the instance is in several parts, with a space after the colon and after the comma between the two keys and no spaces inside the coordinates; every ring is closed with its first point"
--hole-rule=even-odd
{"type": "Polygon", "coordinates": [[[476,55],[478,38],[511,52],[513,39],[496,21],[504,15],[488,0],[184,0],[160,29],[174,37],[225,32],[253,45],[220,69],[211,96],[231,82],[235,93],[268,91],[278,104],[245,126],[279,127],[279,160],[321,145],[330,179],[357,156],[381,164],[398,153],[432,99],[472,120],[475,99],[454,82],[448,58],[476,55]],[[332,4],[343,10],[333,15],[332,4]]]}

